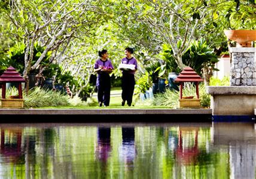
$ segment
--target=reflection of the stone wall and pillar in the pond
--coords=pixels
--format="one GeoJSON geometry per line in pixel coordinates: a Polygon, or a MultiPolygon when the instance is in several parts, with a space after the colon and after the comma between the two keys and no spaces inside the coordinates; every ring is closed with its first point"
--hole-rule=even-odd
{"type": "Polygon", "coordinates": [[[255,178],[255,137],[254,124],[214,124],[214,143],[229,144],[231,178],[255,178]]]}

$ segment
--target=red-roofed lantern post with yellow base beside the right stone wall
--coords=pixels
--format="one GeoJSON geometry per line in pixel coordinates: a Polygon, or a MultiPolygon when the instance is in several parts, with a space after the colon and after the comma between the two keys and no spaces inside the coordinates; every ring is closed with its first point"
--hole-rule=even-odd
{"type": "Polygon", "coordinates": [[[201,107],[199,98],[199,82],[203,79],[197,75],[197,73],[191,69],[191,67],[185,67],[184,70],[177,76],[174,82],[179,82],[179,107],[201,107]],[[182,88],[184,82],[195,82],[196,83],[196,95],[197,98],[193,97],[182,97],[182,88]]]}

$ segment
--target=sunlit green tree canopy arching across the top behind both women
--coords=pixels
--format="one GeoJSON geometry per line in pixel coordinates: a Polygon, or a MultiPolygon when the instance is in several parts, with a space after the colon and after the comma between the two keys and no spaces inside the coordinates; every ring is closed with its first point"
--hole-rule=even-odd
{"type": "MultiPolygon", "coordinates": [[[[252,0],[32,0],[1,1],[1,7],[2,66],[7,66],[6,52],[13,44],[25,44],[24,76],[40,65],[59,64],[62,74],[71,72],[80,84],[74,86],[77,94],[88,85],[103,48],[115,67],[125,47],[135,48],[140,74],[162,59],[167,44],[175,65],[166,67],[181,70],[192,63],[184,64],[182,58],[194,41],[205,39],[208,47],[221,50],[227,47],[224,29],[256,29],[252,0]],[[44,51],[34,51],[36,44],[44,51]]],[[[121,75],[117,69],[114,74],[121,75]]]]}

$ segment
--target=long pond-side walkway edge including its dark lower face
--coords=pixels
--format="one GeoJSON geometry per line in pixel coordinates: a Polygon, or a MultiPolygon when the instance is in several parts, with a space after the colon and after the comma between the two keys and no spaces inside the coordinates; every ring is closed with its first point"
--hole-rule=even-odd
{"type": "Polygon", "coordinates": [[[211,109],[0,109],[5,123],[212,122],[211,109]]]}

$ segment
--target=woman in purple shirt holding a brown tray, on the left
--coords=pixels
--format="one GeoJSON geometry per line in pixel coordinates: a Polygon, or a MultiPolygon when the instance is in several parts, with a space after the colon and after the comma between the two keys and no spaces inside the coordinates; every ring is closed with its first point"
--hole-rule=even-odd
{"type": "Polygon", "coordinates": [[[110,76],[109,73],[114,69],[111,61],[108,59],[108,51],[102,50],[99,51],[99,59],[95,62],[95,72],[97,72],[97,100],[99,102],[99,106],[109,106],[110,100],[110,76]]]}

